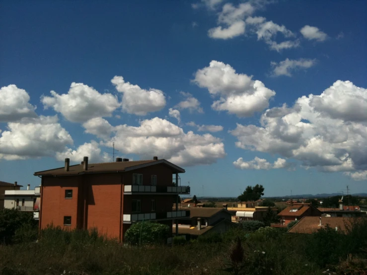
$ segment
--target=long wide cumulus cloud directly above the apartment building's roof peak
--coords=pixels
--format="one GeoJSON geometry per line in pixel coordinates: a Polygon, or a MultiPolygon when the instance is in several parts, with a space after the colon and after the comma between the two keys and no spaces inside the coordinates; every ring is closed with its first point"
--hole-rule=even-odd
{"type": "Polygon", "coordinates": [[[112,142],[121,153],[134,153],[148,159],[158,155],[183,166],[211,164],[225,156],[220,138],[191,131],[184,133],[180,127],[157,117],[141,121],[138,127],[114,127],[114,136],[102,141],[106,146],[112,142]]]}

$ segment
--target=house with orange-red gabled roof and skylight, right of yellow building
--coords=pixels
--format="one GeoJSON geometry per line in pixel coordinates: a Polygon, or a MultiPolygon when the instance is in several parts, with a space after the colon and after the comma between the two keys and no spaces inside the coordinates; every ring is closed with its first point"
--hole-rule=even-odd
{"type": "Polygon", "coordinates": [[[287,225],[291,221],[300,220],[304,216],[321,216],[321,211],[310,204],[293,204],[281,211],[278,216],[281,217],[281,224],[287,225]]]}

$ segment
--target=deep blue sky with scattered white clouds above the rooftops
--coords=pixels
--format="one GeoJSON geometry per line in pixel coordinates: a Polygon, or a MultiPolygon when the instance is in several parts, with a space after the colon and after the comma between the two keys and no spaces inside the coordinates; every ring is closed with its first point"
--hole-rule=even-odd
{"type": "Polygon", "coordinates": [[[367,192],[365,1],[0,5],[0,180],[115,142],[199,196],[367,192]]]}

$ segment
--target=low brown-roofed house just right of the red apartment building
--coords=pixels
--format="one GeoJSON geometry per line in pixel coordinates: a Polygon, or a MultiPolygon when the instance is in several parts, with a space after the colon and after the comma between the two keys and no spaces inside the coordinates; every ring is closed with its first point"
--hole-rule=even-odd
{"type": "Polygon", "coordinates": [[[178,234],[195,238],[208,232],[225,232],[236,226],[231,216],[225,208],[190,207],[190,218],[178,220],[178,234]]]}

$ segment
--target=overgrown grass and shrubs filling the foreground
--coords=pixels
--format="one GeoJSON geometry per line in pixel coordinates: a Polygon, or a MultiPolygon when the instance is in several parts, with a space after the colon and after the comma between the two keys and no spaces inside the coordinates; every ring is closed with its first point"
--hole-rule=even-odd
{"type": "Polygon", "coordinates": [[[96,230],[49,227],[40,232],[38,242],[0,245],[0,274],[364,274],[367,219],[356,220],[346,233],[326,228],[314,234],[285,234],[279,228],[238,226],[196,240],[173,238],[172,246],[125,246],[96,230]]]}

